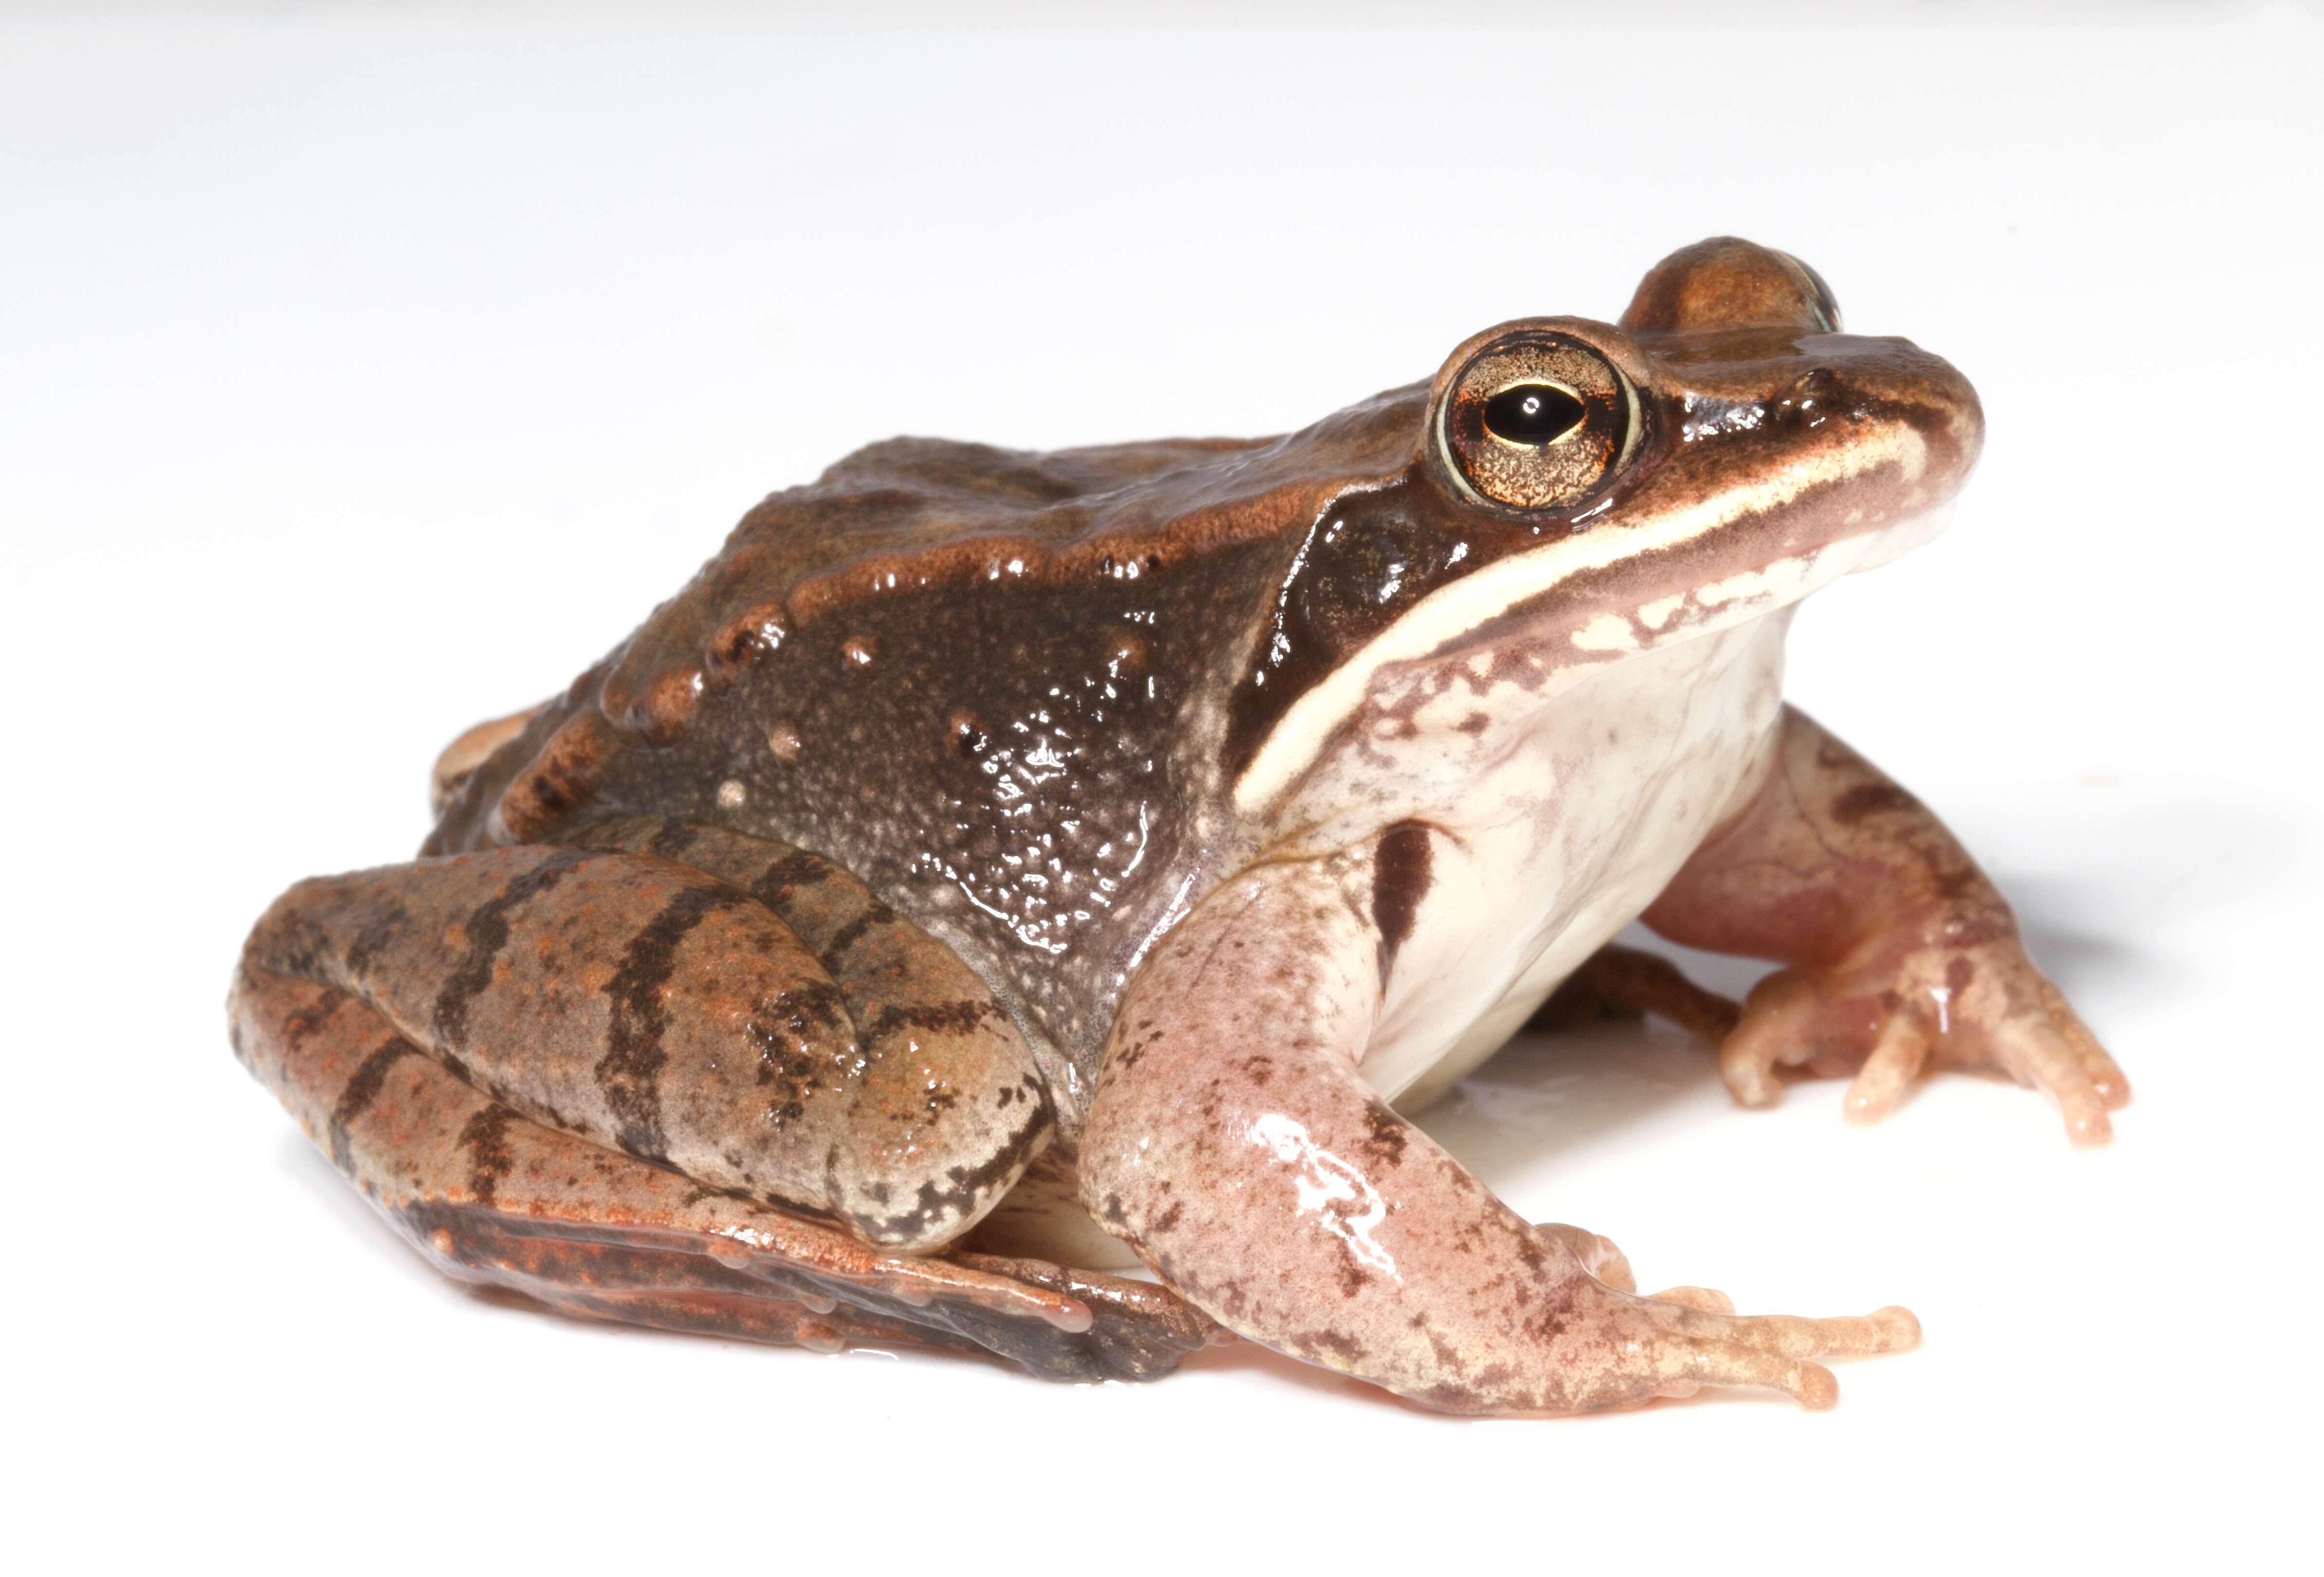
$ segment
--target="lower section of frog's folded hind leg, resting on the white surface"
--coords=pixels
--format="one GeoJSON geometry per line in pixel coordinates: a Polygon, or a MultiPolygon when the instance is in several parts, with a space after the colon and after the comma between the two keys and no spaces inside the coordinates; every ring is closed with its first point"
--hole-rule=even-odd
{"type": "Polygon", "coordinates": [[[674,1331],[990,1352],[1050,1380],[1150,1377],[1213,1335],[1160,1289],[885,1254],[523,1117],[346,992],[244,971],[235,1052],[449,1275],[674,1331]]]}

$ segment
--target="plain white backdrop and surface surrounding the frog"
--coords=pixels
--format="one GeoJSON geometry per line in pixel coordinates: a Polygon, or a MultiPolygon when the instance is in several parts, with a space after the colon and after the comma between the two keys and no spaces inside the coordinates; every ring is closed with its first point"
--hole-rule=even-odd
{"type": "Polygon", "coordinates": [[[2319,81],[2291,9],[0,26],[23,1570],[2266,1558],[2317,1400],[2319,81]],[[2138,1101],[2099,1154],[1961,1078],[1859,1131],[1638,1029],[1427,1126],[1648,1282],[1913,1305],[1838,1412],[558,1322],[435,1280],[228,1057],[265,901],[409,855],[435,750],[769,488],[897,430],[1301,425],[1715,232],[1982,390],[1952,534],[1822,595],[1789,690],[2138,1101]]]}

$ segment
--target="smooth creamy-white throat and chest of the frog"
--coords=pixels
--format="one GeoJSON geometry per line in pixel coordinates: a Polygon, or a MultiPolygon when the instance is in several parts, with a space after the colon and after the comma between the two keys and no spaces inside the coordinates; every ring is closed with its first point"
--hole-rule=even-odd
{"type": "Polygon", "coordinates": [[[1364,1052],[1380,1096],[1441,1094],[1655,901],[1776,725],[1789,613],[1615,662],[1448,780],[1427,818],[1448,836],[1364,1052]]]}

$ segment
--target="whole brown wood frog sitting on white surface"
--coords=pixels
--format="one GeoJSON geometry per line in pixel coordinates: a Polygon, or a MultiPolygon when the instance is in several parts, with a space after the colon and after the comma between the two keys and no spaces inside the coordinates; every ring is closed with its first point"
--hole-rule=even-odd
{"type": "Polygon", "coordinates": [[[895,439],[439,759],[411,864],[251,934],[242,1061],[456,1277],[1143,1377],[1241,1335],[1429,1407],[1831,1405],[1913,1315],[1641,1296],[1406,1122],[1545,1001],[1729,1089],[2129,1099],[1943,824],[1780,699],[1941,530],[1968,381],[1799,260],[1673,253],[1274,439],[895,439]],[[1608,950],[1773,959],[1750,999],[1608,950]],[[1113,1275],[1143,1263],[1155,1280],[1113,1275]]]}

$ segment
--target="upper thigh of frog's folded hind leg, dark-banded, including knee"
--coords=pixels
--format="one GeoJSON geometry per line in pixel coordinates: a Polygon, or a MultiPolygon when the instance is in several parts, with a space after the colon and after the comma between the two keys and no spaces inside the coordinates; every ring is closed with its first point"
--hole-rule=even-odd
{"type": "MultiPolygon", "coordinates": [[[[846,955],[825,950],[855,980],[846,955]]],[[[351,992],[537,1122],[883,1247],[957,1238],[1053,1129],[1032,1052],[957,959],[941,1001],[911,962],[885,996],[851,994],[767,903],[653,855],[509,848],[302,883],[244,962],[351,992]]]]}

